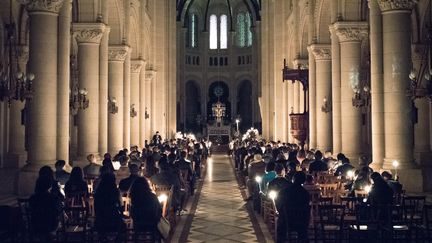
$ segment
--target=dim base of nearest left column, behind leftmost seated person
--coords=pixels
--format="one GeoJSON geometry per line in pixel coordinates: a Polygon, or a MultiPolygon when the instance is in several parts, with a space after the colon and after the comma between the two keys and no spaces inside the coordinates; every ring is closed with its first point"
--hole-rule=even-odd
{"type": "Polygon", "coordinates": [[[27,164],[21,168],[17,176],[17,194],[20,197],[28,197],[33,194],[39,169],[45,164],[27,164]]]}

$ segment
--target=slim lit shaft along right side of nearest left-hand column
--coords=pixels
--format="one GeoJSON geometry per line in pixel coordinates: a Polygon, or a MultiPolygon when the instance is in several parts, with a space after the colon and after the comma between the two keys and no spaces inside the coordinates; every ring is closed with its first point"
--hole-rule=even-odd
{"type": "Polygon", "coordinates": [[[59,15],[57,80],[57,159],[69,162],[70,25],[72,1],[65,0],[59,15]]]}

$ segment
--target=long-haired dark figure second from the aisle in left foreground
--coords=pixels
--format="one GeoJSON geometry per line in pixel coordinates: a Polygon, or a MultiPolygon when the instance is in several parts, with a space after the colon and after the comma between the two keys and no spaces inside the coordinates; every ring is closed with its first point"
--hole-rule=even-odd
{"type": "Polygon", "coordinates": [[[115,181],[112,173],[102,175],[95,193],[95,228],[98,232],[120,232],[126,229],[120,191],[115,181]]]}

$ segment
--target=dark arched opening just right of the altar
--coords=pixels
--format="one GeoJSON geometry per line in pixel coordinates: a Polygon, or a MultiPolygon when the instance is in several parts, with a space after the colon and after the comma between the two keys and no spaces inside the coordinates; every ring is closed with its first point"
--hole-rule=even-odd
{"type": "Polygon", "coordinates": [[[245,132],[253,126],[253,86],[250,80],[243,80],[237,88],[237,115],[241,118],[239,128],[245,132]]]}

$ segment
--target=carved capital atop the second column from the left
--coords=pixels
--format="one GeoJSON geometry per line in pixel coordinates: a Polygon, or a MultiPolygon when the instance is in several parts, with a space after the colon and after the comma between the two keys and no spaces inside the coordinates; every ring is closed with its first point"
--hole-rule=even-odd
{"type": "Polygon", "coordinates": [[[100,44],[105,25],[102,23],[74,23],[73,35],[78,44],[100,44]]]}

